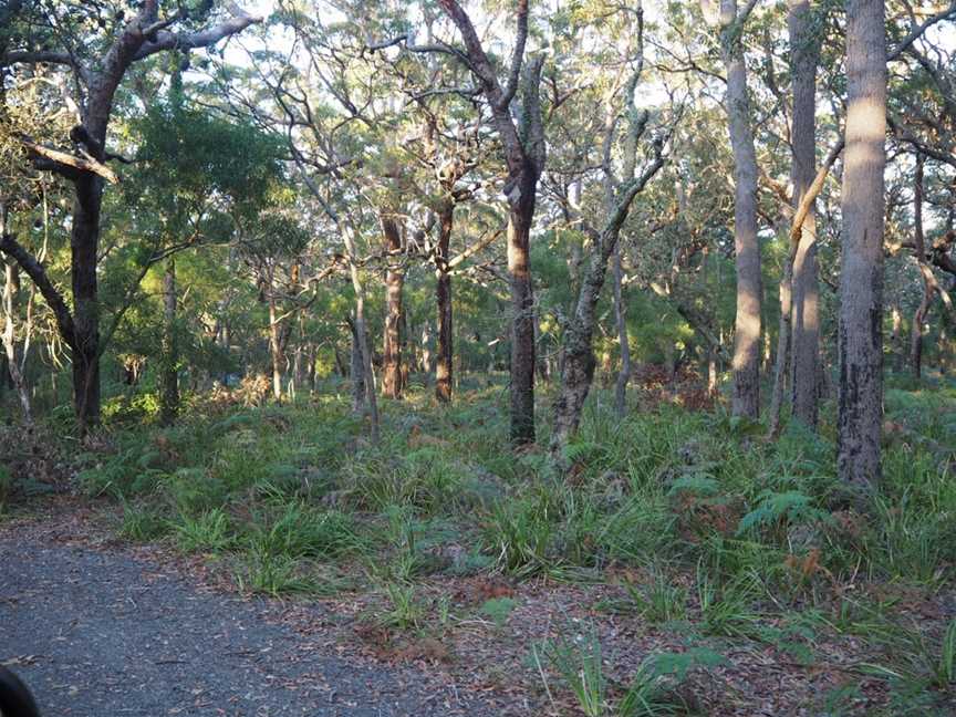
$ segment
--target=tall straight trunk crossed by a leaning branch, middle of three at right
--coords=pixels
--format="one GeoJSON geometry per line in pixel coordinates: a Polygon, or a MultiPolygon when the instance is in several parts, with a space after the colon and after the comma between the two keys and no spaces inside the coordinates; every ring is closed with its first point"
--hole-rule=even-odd
{"type": "MultiPolygon", "coordinates": [[[[815,175],[817,135],[817,64],[820,42],[809,0],[790,0],[787,19],[790,34],[791,77],[793,87],[793,147],[790,178],[793,184],[793,207],[799,207],[815,175]]],[[[790,395],[793,417],[811,428],[817,427],[819,413],[819,281],[817,278],[817,215],[807,212],[793,257],[792,333],[790,395]]]]}

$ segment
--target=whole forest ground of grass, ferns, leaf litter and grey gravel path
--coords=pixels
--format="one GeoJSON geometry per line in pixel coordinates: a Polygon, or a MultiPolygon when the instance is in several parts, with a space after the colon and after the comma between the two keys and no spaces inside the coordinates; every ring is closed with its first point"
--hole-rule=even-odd
{"type": "Polygon", "coordinates": [[[599,393],[555,481],[500,402],[386,403],[377,446],[326,397],[21,451],[14,662],[74,715],[126,682],[183,714],[956,714],[954,387],[887,393],[865,515],[827,414],[766,441],[599,393]]]}

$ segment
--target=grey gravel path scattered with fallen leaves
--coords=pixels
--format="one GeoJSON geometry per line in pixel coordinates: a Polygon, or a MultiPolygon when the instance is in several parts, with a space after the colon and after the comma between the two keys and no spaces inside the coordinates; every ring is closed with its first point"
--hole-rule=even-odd
{"type": "Polygon", "coordinates": [[[322,654],[264,611],[122,551],[0,537],[0,663],[44,717],[495,714],[322,654]]]}

